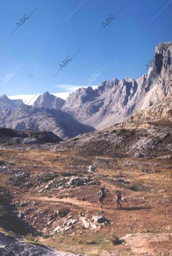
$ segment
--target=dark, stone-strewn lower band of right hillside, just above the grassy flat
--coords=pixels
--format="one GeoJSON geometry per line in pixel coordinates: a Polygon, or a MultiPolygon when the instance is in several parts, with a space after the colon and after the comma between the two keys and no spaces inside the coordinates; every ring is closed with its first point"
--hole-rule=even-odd
{"type": "Polygon", "coordinates": [[[51,150],[77,150],[92,152],[92,155],[108,153],[108,155],[148,157],[162,150],[171,152],[171,126],[110,129],[79,135],[71,140],[50,146],[51,150]]]}

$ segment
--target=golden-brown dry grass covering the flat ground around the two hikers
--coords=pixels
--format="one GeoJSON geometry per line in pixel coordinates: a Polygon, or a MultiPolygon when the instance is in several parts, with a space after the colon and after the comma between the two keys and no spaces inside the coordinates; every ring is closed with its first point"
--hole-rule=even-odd
{"type": "MultiPolygon", "coordinates": [[[[77,155],[76,152],[58,153],[47,150],[21,152],[17,149],[1,150],[0,160],[10,160],[11,168],[25,170],[32,175],[38,175],[42,172],[61,174],[62,172],[73,171],[82,174],[83,165],[87,170],[89,163],[95,163],[96,172],[89,175],[99,181],[100,185],[81,186],[76,189],[64,189],[58,193],[48,193],[49,199],[46,201],[44,198],[39,201],[40,195],[34,191],[34,188],[29,190],[11,186],[7,176],[1,174],[0,186],[9,189],[14,197],[14,202],[25,201],[29,197],[34,197],[34,201],[38,202],[38,209],[28,214],[30,225],[32,225],[32,215],[40,214],[41,211],[49,213],[59,209],[62,212],[64,209],[70,209],[71,213],[69,214],[72,214],[74,218],[79,213],[87,214],[90,217],[94,214],[103,214],[105,218],[111,220],[110,226],[104,227],[96,233],[86,229],[83,234],[79,235],[80,231],[74,230],[73,234],[69,236],[40,238],[43,244],[53,246],[56,249],[85,255],[105,255],[107,251],[124,250],[123,244],[112,244],[110,238],[114,233],[118,234],[120,238],[134,232],[165,232],[166,228],[171,225],[171,160],[81,156],[77,155]],[[126,165],[126,162],[130,165],[126,165]],[[151,173],[141,172],[144,169],[151,173]],[[119,178],[125,180],[126,183],[119,182],[119,178]],[[105,186],[108,191],[103,212],[99,208],[98,196],[96,195],[100,186],[105,186]],[[129,187],[131,186],[138,187],[138,191],[130,190],[129,187]],[[123,203],[123,210],[115,209],[115,191],[117,189],[121,190],[123,197],[127,199],[127,202],[123,203]],[[53,201],[53,198],[56,198],[57,202],[53,201]],[[60,201],[60,198],[64,198],[64,201],[62,199],[60,201]],[[84,243],[79,243],[80,240],[83,240],[84,243]],[[92,241],[95,244],[91,243],[92,241]]],[[[35,225],[36,228],[44,228],[44,221],[42,222],[41,217],[35,225]]]]}

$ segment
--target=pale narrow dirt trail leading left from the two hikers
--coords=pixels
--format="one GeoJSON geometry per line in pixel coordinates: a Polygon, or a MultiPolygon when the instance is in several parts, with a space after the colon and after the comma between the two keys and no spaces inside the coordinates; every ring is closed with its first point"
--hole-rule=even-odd
{"type": "Polygon", "coordinates": [[[101,209],[100,206],[97,204],[95,206],[92,206],[93,204],[91,202],[80,201],[75,198],[62,198],[61,199],[61,198],[56,198],[56,197],[32,197],[32,196],[30,196],[28,199],[32,199],[35,201],[43,201],[43,202],[67,202],[69,204],[77,205],[80,208],[87,208],[89,210],[96,210],[96,211],[98,210],[99,212],[103,210],[104,212],[114,213],[114,210],[107,209],[107,206],[106,206],[106,208],[101,209]]]}

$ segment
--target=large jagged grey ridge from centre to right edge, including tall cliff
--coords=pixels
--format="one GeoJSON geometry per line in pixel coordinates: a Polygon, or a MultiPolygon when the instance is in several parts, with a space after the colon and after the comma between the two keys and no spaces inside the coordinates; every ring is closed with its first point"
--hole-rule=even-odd
{"type": "Polygon", "coordinates": [[[62,110],[96,129],[122,122],[136,111],[156,104],[172,90],[172,43],[156,47],[148,74],[139,79],[104,81],[93,90],[81,88],[69,95],[62,110]]]}

